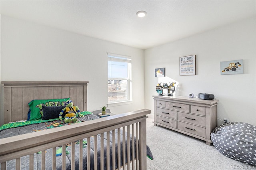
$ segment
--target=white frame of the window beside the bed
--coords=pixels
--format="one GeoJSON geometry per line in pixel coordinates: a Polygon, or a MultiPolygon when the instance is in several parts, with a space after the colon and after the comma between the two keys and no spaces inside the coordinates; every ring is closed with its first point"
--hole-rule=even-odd
{"type": "Polygon", "coordinates": [[[132,103],[132,57],[126,55],[119,55],[115,53],[107,53],[108,61],[121,61],[128,63],[128,77],[114,78],[108,77],[108,80],[127,80],[127,99],[119,101],[108,101],[108,107],[126,105],[132,103]],[[118,58],[116,58],[118,57],[118,58]]]}

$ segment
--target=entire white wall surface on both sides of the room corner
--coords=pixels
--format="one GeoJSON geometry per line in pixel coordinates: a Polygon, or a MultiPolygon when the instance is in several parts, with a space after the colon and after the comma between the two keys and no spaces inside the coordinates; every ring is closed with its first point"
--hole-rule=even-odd
{"type": "MultiPolygon", "coordinates": [[[[219,119],[256,125],[255,28],[256,19],[250,18],[143,51],[1,15],[0,80],[89,81],[88,110],[93,111],[107,103],[106,52],[130,55],[133,103],[112,112],[153,111],[156,84],[176,81],[175,95],[212,93],[219,99],[219,119]],[[179,57],[193,54],[196,75],[180,76],[179,57]],[[244,60],[244,74],[220,75],[220,61],[234,59],[244,60]],[[154,77],[159,67],[166,68],[166,77],[154,77]]],[[[3,93],[1,116],[2,101],[3,93]]]]}

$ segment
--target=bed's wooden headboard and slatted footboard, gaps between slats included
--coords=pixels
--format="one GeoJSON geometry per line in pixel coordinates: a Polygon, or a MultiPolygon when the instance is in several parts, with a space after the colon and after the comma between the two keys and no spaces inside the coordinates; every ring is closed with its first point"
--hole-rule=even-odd
{"type": "MultiPolygon", "coordinates": [[[[88,81],[2,81],[4,123],[27,119],[33,99],[69,97],[87,110],[88,81]]],[[[142,109],[0,139],[1,169],[146,170],[146,119],[142,109]],[[86,141],[86,148],[83,142],[86,141]],[[80,144],[77,144],[80,143],[80,144]],[[67,144],[70,154],[66,154],[67,144]],[[56,148],[62,155],[56,156],[56,148]],[[38,154],[40,153],[40,154],[38,154]],[[40,160],[38,158],[40,155],[40,160]],[[67,158],[68,157],[68,158],[67,158]],[[36,159],[36,162],[35,162],[36,159]],[[50,160],[50,162],[49,162],[50,160]],[[49,167],[50,166],[50,167],[49,167]]],[[[91,116],[92,117],[92,116],[91,116]]]]}

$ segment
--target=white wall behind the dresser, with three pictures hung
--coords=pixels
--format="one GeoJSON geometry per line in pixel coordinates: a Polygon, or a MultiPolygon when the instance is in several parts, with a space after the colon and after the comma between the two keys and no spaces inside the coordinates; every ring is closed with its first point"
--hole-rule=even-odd
{"type": "MultiPolygon", "coordinates": [[[[189,29],[189,28],[188,28],[189,29]]],[[[214,94],[217,118],[256,125],[256,18],[146,49],[145,107],[153,110],[158,82],[176,81],[176,94],[214,94]],[[196,75],[179,75],[179,57],[196,55],[196,75]],[[220,75],[220,61],[243,59],[244,74],[220,75]],[[166,77],[154,77],[155,68],[166,77]]],[[[217,120],[217,125],[222,124],[217,120]]]]}

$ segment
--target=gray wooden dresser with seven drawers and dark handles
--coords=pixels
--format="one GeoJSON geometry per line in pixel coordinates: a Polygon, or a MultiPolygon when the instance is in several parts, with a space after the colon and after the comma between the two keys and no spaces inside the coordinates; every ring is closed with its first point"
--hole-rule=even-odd
{"type": "Polygon", "coordinates": [[[154,125],[166,127],[210,145],[211,132],[216,127],[218,100],[203,100],[183,96],[153,96],[154,125]]]}

